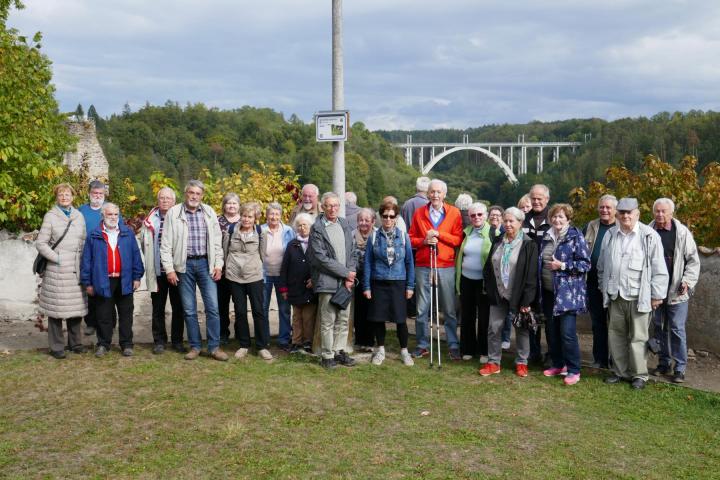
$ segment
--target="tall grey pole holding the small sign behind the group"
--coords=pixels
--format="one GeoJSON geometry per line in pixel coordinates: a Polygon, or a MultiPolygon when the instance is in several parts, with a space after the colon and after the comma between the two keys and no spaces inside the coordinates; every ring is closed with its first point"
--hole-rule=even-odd
{"type": "MultiPolygon", "coordinates": [[[[332,0],[333,106],[345,108],[342,45],[342,0],[332,0]]],[[[347,125],[350,128],[350,125],[347,125]]],[[[333,191],[340,197],[341,217],[345,216],[345,142],[333,142],[333,191]]]]}

